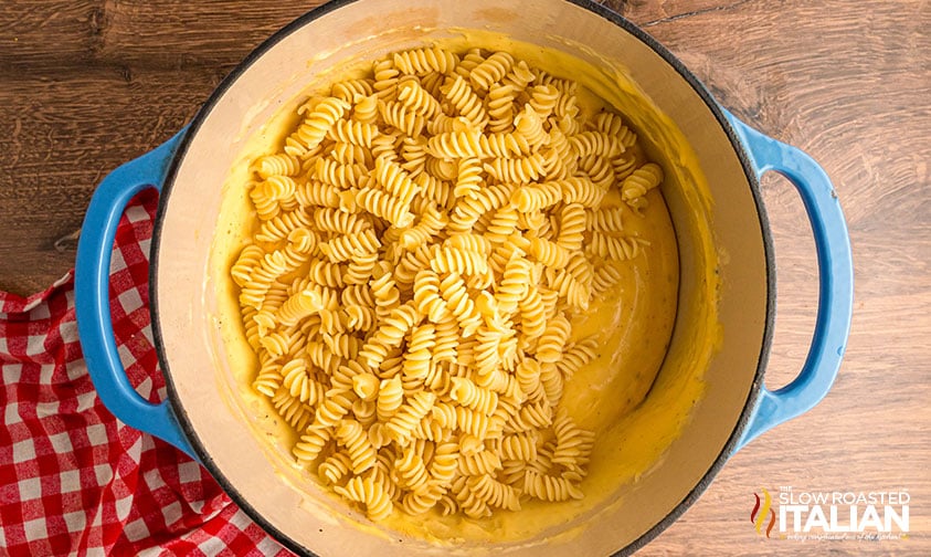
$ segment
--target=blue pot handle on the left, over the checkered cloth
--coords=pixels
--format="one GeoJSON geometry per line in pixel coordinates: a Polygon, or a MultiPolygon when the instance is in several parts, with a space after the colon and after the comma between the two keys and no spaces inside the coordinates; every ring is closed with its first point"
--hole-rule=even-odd
{"type": "Polygon", "coordinates": [[[184,132],[118,167],[97,187],[77,242],[74,305],[84,360],[104,406],[127,425],[151,433],[199,460],[168,401],[154,404],[130,385],[116,348],[109,304],[110,259],[119,219],[139,191],[161,191],[184,132]]]}

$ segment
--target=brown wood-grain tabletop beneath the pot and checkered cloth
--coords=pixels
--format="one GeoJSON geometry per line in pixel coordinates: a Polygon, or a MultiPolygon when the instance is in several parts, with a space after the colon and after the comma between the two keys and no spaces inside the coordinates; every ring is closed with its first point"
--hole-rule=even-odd
{"type": "MultiPolygon", "coordinates": [[[[97,182],[170,137],[258,42],[318,4],[295,0],[0,3],[0,288],[74,264],[97,182]]],[[[646,555],[931,555],[931,3],[617,0],[718,99],[813,155],[846,211],[856,267],[831,395],[733,456],[646,555]],[[753,494],[907,490],[908,539],[766,539],[753,494]]],[[[763,180],[779,318],[768,383],[801,367],[817,304],[797,195],[763,180]]]]}

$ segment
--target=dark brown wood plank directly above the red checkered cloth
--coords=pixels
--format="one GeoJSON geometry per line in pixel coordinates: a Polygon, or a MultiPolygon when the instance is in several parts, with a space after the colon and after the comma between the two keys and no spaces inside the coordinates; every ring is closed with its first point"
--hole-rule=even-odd
{"type": "Polygon", "coordinates": [[[54,244],[81,227],[96,185],[180,129],[219,81],[114,67],[0,81],[0,288],[40,290],[72,267],[74,244],[54,244]]]}

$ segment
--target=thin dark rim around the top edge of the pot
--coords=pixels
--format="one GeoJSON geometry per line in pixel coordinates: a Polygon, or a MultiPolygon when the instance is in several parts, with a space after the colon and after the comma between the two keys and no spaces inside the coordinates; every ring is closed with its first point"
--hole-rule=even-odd
{"type": "MultiPolygon", "coordinates": [[[[200,440],[200,437],[194,431],[190,419],[188,418],[187,412],[184,411],[183,406],[180,402],[178,391],[176,389],[174,382],[171,378],[171,366],[169,365],[168,360],[165,357],[165,346],[161,338],[161,326],[159,320],[159,312],[158,312],[158,259],[160,254],[160,243],[161,243],[161,231],[163,224],[163,216],[167,210],[168,199],[171,196],[171,191],[173,190],[174,186],[174,178],[178,172],[178,168],[180,166],[181,160],[183,160],[184,156],[187,155],[188,148],[190,146],[191,139],[197,135],[198,130],[202,126],[203,122],[205,120],[207,116],[211,113],[218,101],[236,83],[239,77],[260,57],[262,57],[266,52],[273,49],[278,42],[297,31],[298,29],[309,24],[310,22],[332,12],[336,11],[345,6],[349,6],[356,3],[358,1],[363,0],[330,0],[306,13],[298,17],[297,19],[293,20],[290,23],[286,24],[285,27],[278,29],[275,33],[268,36],[265,41],[263,41],[258,46],[253,49],[236,66],[223,78],[223,81],[213,90],[203,105],[200,107],[198,113],[191,119],[189,124],[188,132],[183,135],[178,145],[178,149],[172,157],[168,172],[166,175],[165,185],[162,187],[161,193],[159,196],[158,209],[155,217],[155,223],[152,227],[152,239],[151,239],[151,252],[150,252],[150,260],[149,260],[149,312],[151,316],[151,330],[152,330],[152,339],[154,345],[156,348],[156,354],[158,356],[158,361],[161,367],[162,374],[165,376],[168,401],[171,406],[172,412],[174,417],[178,419],[178,423],[181,427],[184,435],[191,443],[194,452],[197,453],[198,458],[200,459],[202,465],[207,467],[210,474],[216,480],[223,491],[230,496],[230,498],[240,507],[242,508],[250,518],[252,518],[256,524],[258,524],[265,532],[269,533],[276,542],[282,544],[287,549],[294,551],[298,555],[309,555],[316,556],[311,549],[304,547],[303,545],[298,544],[296,540],[290,538],[281,529],[276,528],[273,524],[271,524],[261,513],[258,513],[255,507],[253,507],[248,501],[242,496],[239,490],[226,479],[223,474],[222,470],[214,463],[213,459],[210,456],[210,453],[205,450],[203,443],[200,440]]],[[[648,530],[643,533],[639,537],[631,542],[628,545],[620,548],[613,555],[615,556],[625,556],[631,555],[644,546],[646,546],[649,542],[655,539],[663,533],[666,528],[668,528],[673,523],[675,523],[705,492],[705,490],[711,484],[713,479],[720,472],[724,463],[734,452],[738,446],[738,442],[743,435],[744,430],[747,429],[750,418],[753,414],[753,409],[757,407],[757,400],[759,398],[760,391],[763,387],[763,376],[765,374],[766,364],[769,361],[770,348],[772,345],[772,337],[773,337],[773,325],[775,318],[775,262],[773,255],[773,241],[772,241],[772,233],[770,230],[769,219],[766,217],[765,206],[762,198],[762,191],[760,188],[760,181],[757,177],[757,172],[753,170],[753,166],[750,162],[750,157],[747,153],[747,149],[743,146],[743,143],[738,137],[737,133],[731,127],[730,123],[728,122],[727,117],[724,116],[720,105],[711,95],[710,91],[705,86],[705,84],[689,71],[686,65],[679,61],[666,46],[659,43],[656,39],[654,39],[650,34],[639,28],[637,24],[632,22],[631,20],[626,19],[625,17],[616,13],[604,6],[595,3],[593,0],[563,0],[568,3],[572,3],[580,8],[583,8],[595,15],[599,15],[607,21],[614,23],[618,28],[623,29],[627,33],[632,34],[634,38],[646,44],[650,50],[653,50],[656,54],[658,54],[663,60],[665,60],[678,74],[681,76],[690,86],[691,88],[698,94],[698,96],[705,102],[707,107],[711,111],[715,118],[718,120],[718,124],[721,126],[721,129],[727,135],[731,147],[733,148],[738,159],[740,160],[740,165],[743,168],[743,174],[747,178],[748,185],[750,186],[750,191],[753,197],[753,202],[757,207],[757,214],[760,221],[760,230],[762,232],[762,240],[763,240],[763,252],[765,259],[765,274],[766,274],[766,318],[763,325],[763,337],[760,347],[760,355],[758,358],[757,370],[754,372],[753,382],[751,385],[750,392],[744,402],[743,409],[741,410],[740,418],[738,419],[734,429],[731,432],[730,438],[728,439],[724,446],[721,449],[721,452],[701,476],[701,479],[696,483],[695,487],[691,488],[683,500],[676,504],[676,506],[663,517],[662,521],[654,524],[648,530]]]]}

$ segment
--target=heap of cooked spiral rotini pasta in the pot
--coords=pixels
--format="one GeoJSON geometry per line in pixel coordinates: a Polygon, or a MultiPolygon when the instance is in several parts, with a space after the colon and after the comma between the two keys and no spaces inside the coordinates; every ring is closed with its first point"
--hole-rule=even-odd
{"type": "Polygon", "coordinates": [[[624,222],[663,169],[580,99],[507,52],[396,52],[252,161],[230,275],[253,389],[372,519],[583,496],[595,435],[561,399],[597,344],[574,317],[649,249],[624,222]]]}

